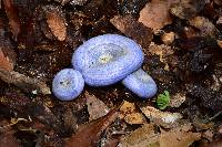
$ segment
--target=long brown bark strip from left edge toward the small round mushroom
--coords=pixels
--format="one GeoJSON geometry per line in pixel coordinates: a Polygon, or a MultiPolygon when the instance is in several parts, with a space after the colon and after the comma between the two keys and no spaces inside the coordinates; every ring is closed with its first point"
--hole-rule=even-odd
{"type": "Polygon", "coordinates": [[[41,93],[43,95],[51,94],[51,91],[46,83],[14,71],[0,69],[0,78],[6,83],[14,84],[27,92],[36,92],[37,94],[41,93]]]}

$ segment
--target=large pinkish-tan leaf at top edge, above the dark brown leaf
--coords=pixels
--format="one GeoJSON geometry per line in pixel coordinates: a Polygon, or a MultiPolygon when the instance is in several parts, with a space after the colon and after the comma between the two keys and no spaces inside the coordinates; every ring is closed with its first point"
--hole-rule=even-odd
{"type": "Polygon", "coordinates": [[[153,30],[172,23],[169,9],[176,0],[152,0],[140,11],[139,22],[153,30]]]}

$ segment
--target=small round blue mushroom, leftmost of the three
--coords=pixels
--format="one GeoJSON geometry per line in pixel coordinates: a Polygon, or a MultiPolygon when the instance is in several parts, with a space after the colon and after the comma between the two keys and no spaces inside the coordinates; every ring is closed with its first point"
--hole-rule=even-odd
{"type": "Polygon", "coordinates": [[[79,71],[64,69],[53,78],[52,92],[61,101],[71,101],[81,94],[84,80],[79,71]]]}

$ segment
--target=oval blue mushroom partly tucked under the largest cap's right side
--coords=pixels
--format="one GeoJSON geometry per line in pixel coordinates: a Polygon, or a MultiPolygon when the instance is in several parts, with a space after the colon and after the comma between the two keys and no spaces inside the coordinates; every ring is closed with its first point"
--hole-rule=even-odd
{"type": "Polygon", "coordinates": [[[154,96],[158,91],[157,84],[153,78],[142,69],[139,69],[138,71],[128,75],[122,81],[122,84],[144,99],[154,96]]]}

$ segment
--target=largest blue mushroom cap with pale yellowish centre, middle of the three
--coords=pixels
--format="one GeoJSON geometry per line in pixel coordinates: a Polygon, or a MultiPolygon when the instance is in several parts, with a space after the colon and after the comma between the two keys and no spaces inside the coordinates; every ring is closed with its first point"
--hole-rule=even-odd
{"type": "Polygon", "coordinates": [[[133,40],[103,34],[80,45],[72,56],[72,65],[82,73],[87,84],[105,86],[137,71],[143,59],[142,49],[133,40]]]}

